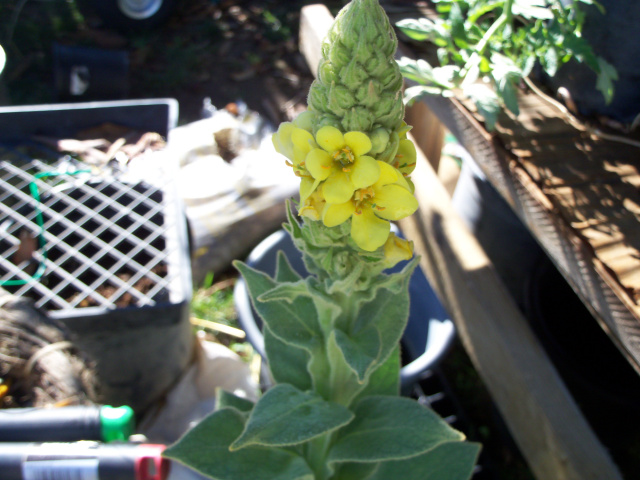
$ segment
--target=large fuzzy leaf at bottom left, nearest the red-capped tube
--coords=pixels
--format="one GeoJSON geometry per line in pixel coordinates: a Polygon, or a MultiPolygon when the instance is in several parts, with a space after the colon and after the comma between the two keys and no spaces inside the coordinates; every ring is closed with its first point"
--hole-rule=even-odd
{"type": "Polygon", "coordinates": [[[229,451],[244,428],[244,416],[223,408],[189,430],[163,456],[179,461],[213,480],[313,480],[305,460],[295,453],[264,447],[229,451]]]}

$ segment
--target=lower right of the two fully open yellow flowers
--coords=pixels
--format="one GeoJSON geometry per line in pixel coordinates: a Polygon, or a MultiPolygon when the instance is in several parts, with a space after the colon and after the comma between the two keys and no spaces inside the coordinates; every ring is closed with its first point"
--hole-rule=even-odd
{"type": "Polygon", "coordinates": [[[327,227],[351,218],[351,238],[368,252],[385,244],[391,228],[389,221],[408,217],[418,208],[418,201],[402,174],[385,162],[378,161],[378,165],[378,181],[356,190],[346,202],[336,204],[327,200],[322,211],[322,221],[327,227]]]}

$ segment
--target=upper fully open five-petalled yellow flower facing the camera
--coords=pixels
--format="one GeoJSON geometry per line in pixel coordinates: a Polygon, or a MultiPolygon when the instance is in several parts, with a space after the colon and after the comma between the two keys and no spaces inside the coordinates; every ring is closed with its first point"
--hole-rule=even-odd
{"type": "Polygon", "coordinates": [[[316,134],[318,148],[306,156],[305,167],[314,180],[323,181],[323,195],[328,203],[344,203],[357,189],[373,185],[380,177],[380,167],[373,157],[371,140],[362,132],[342,134],[325,126],[316,134]]]}

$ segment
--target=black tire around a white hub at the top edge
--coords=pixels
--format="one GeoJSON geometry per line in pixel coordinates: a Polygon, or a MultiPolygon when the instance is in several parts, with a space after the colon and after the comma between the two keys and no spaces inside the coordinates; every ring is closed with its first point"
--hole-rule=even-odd
{"type": "Polygon", "coordinates": [[[77,3],[82,12],[92,12],[100,18],[104,26],[124,33],[148,30],[160,25],[176,6],[175,0],[158,0],[157,10],[134,17],[121,8],[119,0],[78,0],[77,3]]]}

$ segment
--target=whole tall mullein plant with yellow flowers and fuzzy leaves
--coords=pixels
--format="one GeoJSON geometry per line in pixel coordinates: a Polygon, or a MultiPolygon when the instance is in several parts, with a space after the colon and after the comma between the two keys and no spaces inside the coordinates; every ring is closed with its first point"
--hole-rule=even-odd
{"type": "Polygon", "coordinates": [[[390,221],[418,208],[397,40],[377,0],[353,0],[322,45],[309,109],[273,135],[300,177],[285,228],[310,275],[279,253],[274,278],[236,262],[273,378],[253,404],[214,413],[165,456],[219,480],[467,479],[480,447],[399,394],[413,244],[390,221]],[[399,272],[384,271],[410,260],[399,272]]]}

